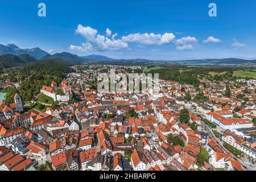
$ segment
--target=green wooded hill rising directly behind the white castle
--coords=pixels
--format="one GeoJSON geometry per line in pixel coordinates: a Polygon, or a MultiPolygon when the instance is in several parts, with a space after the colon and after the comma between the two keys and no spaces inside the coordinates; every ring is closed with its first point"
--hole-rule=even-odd
{"type": "MultiPolygon", "coordinates": [[[[63,60],[45,60],[36,61],[24,68],[16,70],[22,84],[18,89],[3,90],[6,92],[6,102],[13,102],[15,93],[20,94],[23,101],[31,101],[31,99],[40,93],[43,85],[51,85],[52,80],[60,84],[66,73],[74,70],[63,60]]],[[[14,75],[15,76],[15,75],[14,75]]]]}

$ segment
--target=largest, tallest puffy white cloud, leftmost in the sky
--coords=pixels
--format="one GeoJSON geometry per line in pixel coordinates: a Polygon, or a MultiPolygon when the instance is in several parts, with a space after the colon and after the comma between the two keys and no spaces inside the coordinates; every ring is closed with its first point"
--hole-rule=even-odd
{"type": "MultiPolygon", "coordinates": [[[[84,27],[81,24],[77,26],[76,34],[82,35],[85,38],[86,43],[83,43],[82,46],[69,46],[69,48],[73,50],[86,52],[96,49],[97,51],[105,51],[108,49],[121,49],[128,47],[128,44],[123,42],[121,39],[115,39],[117,34],[114,34],[112,39],[109,39],[104,35],[98,34],[96,29],[84,27]]],[[[108,36],[112,34],[109,28],[106,29],[106,34],[108,36]]]]}

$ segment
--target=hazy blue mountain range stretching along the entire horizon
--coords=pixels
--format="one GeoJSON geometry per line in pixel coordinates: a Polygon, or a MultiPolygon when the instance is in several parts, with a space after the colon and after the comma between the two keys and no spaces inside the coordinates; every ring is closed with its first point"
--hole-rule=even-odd
{"type": "Polygon", "coordinates": [[[0,44],[0,68],[16,67],[23,64],[33,63],[38,60],[58,59],[67,61],[69,64],[118,64],[118,65],[239,65],[256,64],[256,60],[237,58],[227,59],[201,59],[201,60],[147,60],[147,59],[112,59],[102,55],[77,56],[69,52],[61,52],[50,55],[39,47],[22,49],[15,44],[0,44]],[[2,55],[2,56],[1,56],[2,55]]]}

